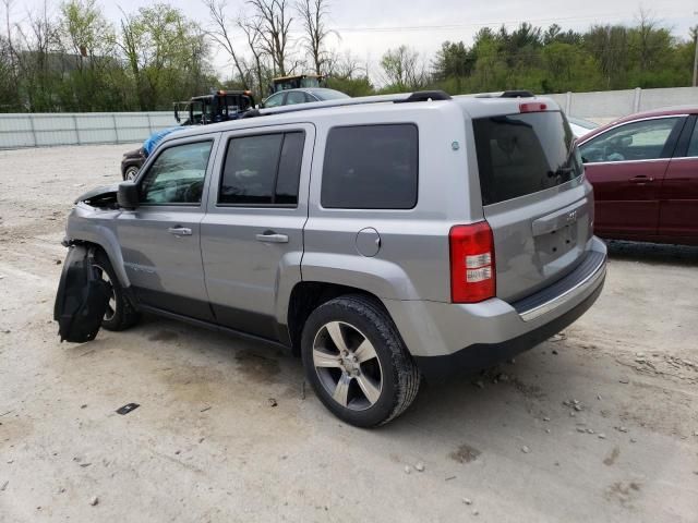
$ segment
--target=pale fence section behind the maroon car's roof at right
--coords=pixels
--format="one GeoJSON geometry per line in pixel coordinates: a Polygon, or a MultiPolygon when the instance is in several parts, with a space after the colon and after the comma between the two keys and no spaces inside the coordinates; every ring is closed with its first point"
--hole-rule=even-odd
{"type": "Polygon", "coordinates": [[[698,106],[698,87],[602,90],[550,95],[567,114],[606,123],[633,112],[670,106],[698,106]]]}

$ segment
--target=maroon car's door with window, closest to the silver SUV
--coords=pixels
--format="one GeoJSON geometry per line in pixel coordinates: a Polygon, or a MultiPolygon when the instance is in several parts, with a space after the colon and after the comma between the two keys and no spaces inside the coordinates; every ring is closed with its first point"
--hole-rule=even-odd
{"type": "Polygon", "coordinates": [[[662,181],[684,120],[628,122],[579,146],[594,190],[597,233],[638,239],[657,234],[662,181]]]}

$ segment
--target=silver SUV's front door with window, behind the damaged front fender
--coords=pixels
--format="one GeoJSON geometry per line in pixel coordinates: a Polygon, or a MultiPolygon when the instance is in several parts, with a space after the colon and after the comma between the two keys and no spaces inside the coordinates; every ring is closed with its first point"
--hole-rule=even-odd
{"type": "Polygon", "coordinates": [[[139,177],[140,204],[117,229],[125,270],[140,303],[213,320],[201,258],[208,159],[214,137],[174,142],[139,177]]]}

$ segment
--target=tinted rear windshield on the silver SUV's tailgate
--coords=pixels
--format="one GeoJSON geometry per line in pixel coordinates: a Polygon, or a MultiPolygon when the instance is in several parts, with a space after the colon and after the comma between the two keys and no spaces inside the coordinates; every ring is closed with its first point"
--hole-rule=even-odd
{"type": "Polygon", "coordinates": [[[582,173],[562,112],[480,118],[472,125],[483,205],[554,187],[582,173]]]}

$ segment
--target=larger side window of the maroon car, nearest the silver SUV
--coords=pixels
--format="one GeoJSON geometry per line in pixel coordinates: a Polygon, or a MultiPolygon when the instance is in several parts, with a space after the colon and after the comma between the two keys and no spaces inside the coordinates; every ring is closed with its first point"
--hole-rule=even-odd
{"type": "Polygon", "coordinates": [[[669,158],[666,143],[679,118],[626,123],[591,138],[579,149],[585,162],[637,161],[669,158]]]}

